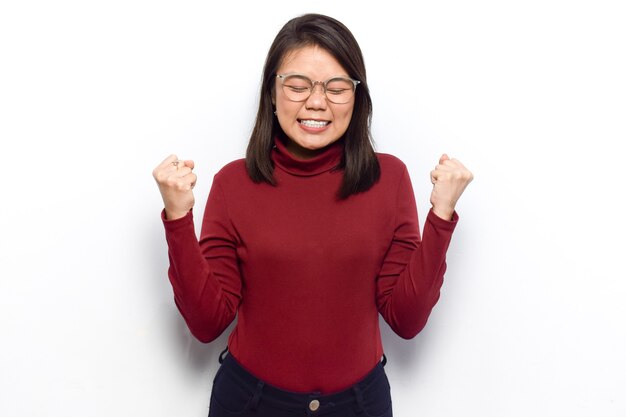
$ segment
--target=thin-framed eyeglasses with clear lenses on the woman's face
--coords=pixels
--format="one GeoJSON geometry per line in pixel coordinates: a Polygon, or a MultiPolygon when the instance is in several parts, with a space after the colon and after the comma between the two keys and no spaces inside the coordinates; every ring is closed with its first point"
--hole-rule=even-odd
{"type": "Polygon", "coordinates": [[[326,81],[312,81],[302,74],[277,74],[283,92],[291,101],[304,101],[313,93],[317,84],[322,86],[322,92],[331,103],[345,104],[354,96],[356,86],[361,81],[346,77],[333,77],[326,81]]]}

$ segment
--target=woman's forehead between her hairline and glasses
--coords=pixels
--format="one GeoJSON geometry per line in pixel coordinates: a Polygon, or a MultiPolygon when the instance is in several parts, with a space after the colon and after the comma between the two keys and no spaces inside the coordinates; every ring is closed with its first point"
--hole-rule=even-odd
{"type": "Polygon", "coordinates": [[[336,75],[348,76],[346,69],[326,49],[317,45],[293,49],[283,56],[279,74],[295,72],[323,80],[336,75]]]}

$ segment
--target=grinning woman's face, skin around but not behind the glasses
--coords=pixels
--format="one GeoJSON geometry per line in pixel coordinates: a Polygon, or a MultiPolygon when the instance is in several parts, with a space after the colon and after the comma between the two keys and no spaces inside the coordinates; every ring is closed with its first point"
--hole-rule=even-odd
{"type": "MultiPolygon", "coordinates": [[[[306,75],[313,81],[349,77],[339,62],[318,46],[305,46],[287,54],[277,74],[288,73],[306,75]]],[[[287,149],[303,159],[314,157],[322,148],[337,141],[348,129],[354,110],[354,96],[345,104],[331,103],[319,84],[309,98],[295,102],[285,96],[281,80],[277,79],[272,99],[278,123],[289,138],[287,149]]]]}

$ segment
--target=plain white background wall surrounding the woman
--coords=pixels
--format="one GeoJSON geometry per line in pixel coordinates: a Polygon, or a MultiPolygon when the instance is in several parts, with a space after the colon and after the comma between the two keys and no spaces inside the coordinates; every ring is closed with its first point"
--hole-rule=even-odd
{"type": "Polygon", "coordinates": [[[3,1],[0,415],[206,415],[226,335],[174,306],[151,171],[194,159],[201,214],[304,12],[359,40],[420,213],[442,152],[475,174],[426,329],[383,324],[394,415],[626,415],[622,4],[3,1]]]}

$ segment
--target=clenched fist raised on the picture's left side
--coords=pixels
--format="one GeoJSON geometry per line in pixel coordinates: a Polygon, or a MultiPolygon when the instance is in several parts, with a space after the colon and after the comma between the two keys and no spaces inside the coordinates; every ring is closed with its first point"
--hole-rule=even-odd
{"type": "Polygon", "coordinates": [[[195,203],[192,189],[198,178],[191,172],[193,167],[193,161],[181,161],[170,155],[152,171],[169,220],[186,216],[195,203]]]}

